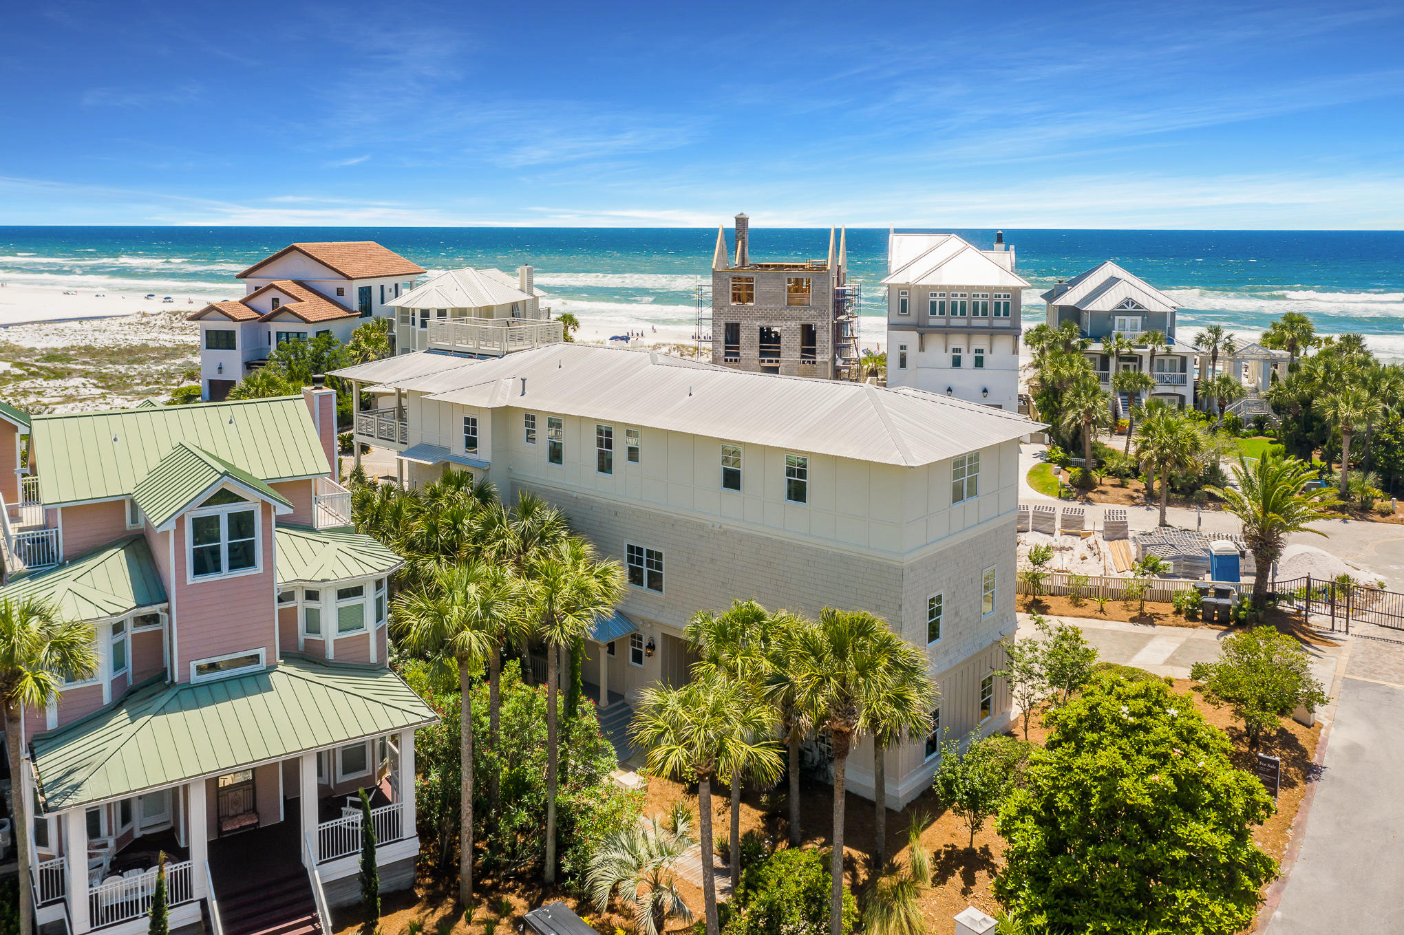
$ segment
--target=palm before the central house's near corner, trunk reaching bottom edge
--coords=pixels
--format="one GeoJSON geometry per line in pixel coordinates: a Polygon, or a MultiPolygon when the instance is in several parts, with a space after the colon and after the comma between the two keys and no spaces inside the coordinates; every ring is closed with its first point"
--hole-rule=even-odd
{"type": "Polygon", "coordinates": [[[819,625],[802,630],[792,646],[793,671],[802,703],[814,722],[828,729],[834,754],[834,852],[830,858],[830,931],[842,935],[844,914],[844,796],[848,754],[855,734],[870,715],[868,705],[880,698],[901,671],[925,671],[927,657],[866,611],[826,606],[819,625]]]}

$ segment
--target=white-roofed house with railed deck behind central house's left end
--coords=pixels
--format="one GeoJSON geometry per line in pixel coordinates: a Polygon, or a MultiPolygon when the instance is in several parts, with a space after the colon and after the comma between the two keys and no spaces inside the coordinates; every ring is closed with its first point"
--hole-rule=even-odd
{"type": "Polygon", "coordinates": [[[395,347],[501,357],[564,340],[560,321],[542,307],[534,271],[448,270],[390,300],[397,312],[395,347]]]}

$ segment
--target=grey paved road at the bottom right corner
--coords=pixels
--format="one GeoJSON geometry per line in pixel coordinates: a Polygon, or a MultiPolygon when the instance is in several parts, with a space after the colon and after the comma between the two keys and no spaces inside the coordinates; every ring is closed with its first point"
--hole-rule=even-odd
{"type": "Polygon", "coordinates": [[[1356,640],[1302,854],[1268,935],[1404,932],[1400,775],[1404,646],[1356,640]]]}

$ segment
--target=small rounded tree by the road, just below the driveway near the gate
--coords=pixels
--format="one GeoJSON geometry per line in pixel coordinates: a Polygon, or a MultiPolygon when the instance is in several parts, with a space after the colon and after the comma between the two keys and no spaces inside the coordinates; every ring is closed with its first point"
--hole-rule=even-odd
{"type": "Polygon", "coordinates": [[[1254,751],[1297,708],[1316,710],[1327,702],[1302,644],[1269,626],[1234,633],[1217,663],[1195,663],[1189,677],[1210,705],[1233,709],[1254,751]]]}

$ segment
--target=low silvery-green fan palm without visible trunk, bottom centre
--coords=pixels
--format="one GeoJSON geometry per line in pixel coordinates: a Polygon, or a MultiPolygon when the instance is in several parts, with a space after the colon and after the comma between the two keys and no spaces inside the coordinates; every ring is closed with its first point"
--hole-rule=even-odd
{"type": "Polygon", "coordinates": [[[633,924],[640,935],[663,935],[668,918],[692,921],[692,910],[678,891],[678,865],[692,848],[691,816],[668,828],[653,818],[647,827],[630,825],[607,838],[590,855],[585,886],[595,908],[609,908],[615,891],[633,903],[633,924]]]}

